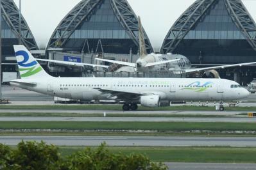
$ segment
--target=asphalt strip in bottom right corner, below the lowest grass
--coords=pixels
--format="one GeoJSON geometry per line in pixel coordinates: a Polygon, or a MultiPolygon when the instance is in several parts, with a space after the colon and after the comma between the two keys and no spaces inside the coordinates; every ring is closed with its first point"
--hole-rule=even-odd
{"type": "Polygon", "coordinates": [[[256,164],[200,164],[200,163],[165,163],[170,170],[241,170],[256,169],[256,164]]]}

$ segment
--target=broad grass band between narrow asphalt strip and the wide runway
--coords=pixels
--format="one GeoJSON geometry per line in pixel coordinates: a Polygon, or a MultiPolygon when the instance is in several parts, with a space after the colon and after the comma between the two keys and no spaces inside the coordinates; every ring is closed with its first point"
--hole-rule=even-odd
{"type": "Polygon", "coordinates": [[[256,130],[256,123],[0,121],[0,129],[67,130],[256,130]]]}

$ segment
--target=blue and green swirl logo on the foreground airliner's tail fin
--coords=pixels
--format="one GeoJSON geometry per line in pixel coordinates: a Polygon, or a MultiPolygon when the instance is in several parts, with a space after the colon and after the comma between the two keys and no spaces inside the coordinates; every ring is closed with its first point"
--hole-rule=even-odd
{"type": "Polygon", "coordinates": [[[42,67],[38,65],[37,61],[31,61],[30,63],[27,63],[28,60],[30,59],[28,52],[24,50],[19,50],[15,52],[15,55],[23,56],[23,61],[18,62],[19,66],[24,67],[24,68],[19,68],[20,73],[25,72],[25,73],[21,73],[21,77],[30,77],[31,75],[35,75],[36,73],[42,71],[42,67]]]}

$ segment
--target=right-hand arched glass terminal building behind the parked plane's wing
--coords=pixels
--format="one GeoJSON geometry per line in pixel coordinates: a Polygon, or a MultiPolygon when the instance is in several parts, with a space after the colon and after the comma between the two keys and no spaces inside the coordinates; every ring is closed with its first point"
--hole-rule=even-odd
{"type": "MultiPolygon", "coordinates": [[[[171,27],[161,52],[199,66],[255,62],[256,24],[241,0],[198,0],[171,27]]],[[[244,85],[256,77],[255,66],[218,71],[244,85]]]]}

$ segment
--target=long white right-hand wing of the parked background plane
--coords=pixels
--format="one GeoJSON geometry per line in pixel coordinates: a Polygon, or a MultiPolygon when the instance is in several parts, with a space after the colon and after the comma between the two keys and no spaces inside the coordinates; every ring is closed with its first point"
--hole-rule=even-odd
{"type": "Polygon", "coordinates": [[[230,68],[234,66],[245,66],[245,65],[255,65],[256,62],[252,63],[239,63],[235,65],[221,65],[221,66],[210,66],[210,67],[204,67],[204,68],[191,68],[185,70],[185,73],[192,73],[192,72],[200,72],[200,71],[207,71],[207,70],[214,70],[214,69],[223,69],[223,68],[230,68]]]}

